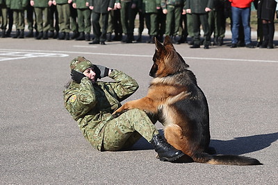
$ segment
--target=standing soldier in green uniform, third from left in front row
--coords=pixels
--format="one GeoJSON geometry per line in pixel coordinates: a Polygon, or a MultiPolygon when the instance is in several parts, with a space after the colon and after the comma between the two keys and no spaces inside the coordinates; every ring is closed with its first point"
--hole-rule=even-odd
{"type": "Polygon", "coordinates": [[[49,0],[33,0],[34,1],[34,9],[35,9],[35,17],[37,23],[38,37],[37,39],[48,39],[48,31],[50,28],[49,24],[49,0]],[[43,35],[42,35],[43,33],[43,35]]]}

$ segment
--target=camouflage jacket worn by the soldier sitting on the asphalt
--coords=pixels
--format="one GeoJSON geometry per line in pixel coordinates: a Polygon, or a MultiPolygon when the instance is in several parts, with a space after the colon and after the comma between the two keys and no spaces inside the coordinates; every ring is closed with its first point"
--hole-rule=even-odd
{"type": "Polygon", "coordinates": [[[101,150],[101,130],[113,119],[112,113],[138,89],[136,80],[122,71],[114,69],[109,77],[115,82],[99,81],[92,85],[89,78],[83,78],[80,84],[71,82],[63,91],[65,108],[97,150],[101,150]]]}

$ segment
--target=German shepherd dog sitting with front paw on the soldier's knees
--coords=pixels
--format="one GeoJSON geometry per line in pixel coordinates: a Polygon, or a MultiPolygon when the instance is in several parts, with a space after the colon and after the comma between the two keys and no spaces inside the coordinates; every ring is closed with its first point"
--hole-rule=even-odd
{"type": "Polygon", "coordinates": [[[167,142],[193,161],[204,164],[259,165],[257,159],[237,155],[210,155],[208,103],[198,87],[195,75],[177,53],[169,36],[163,44],[155,38],[152,69],[154,79],[147,96],[131,100],[113,114],[138,108],[157,114],[164,125],[167,142]]]}

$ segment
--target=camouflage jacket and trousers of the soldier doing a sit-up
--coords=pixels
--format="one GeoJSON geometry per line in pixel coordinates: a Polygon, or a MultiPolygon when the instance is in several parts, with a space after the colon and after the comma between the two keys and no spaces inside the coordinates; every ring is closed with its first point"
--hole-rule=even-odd
{"type": "Polygon", "coordinates": [[[89,78],[83,78],[80,84],[71,82],[63,91],[65,108],[78,122],[85,139],[97,150],[104,150],[104,136],[108,134],[111,136],[105,137],[107,150],[118,150],[126,146],[124,142],[129,140],[128,137],[136,135],[131,133],[135,130],[150,141],[152,134],[158,132],[145,112],[131,110],[117,118],[112,116],[121,106],[120,102],[138,89],[136,80],[116,69],[109,77],[115,82],[99,81],[92,85],[89,78]]]}

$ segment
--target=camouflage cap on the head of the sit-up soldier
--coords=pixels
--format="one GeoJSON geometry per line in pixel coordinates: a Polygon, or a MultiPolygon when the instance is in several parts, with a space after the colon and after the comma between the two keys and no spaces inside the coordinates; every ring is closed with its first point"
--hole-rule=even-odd
{"type": "Polygon", "coordinates": [[[82,56],[78,56],[70,62],[70,69],[83,73],[88,68],[94,68],[94,65],[82,56]]]}

